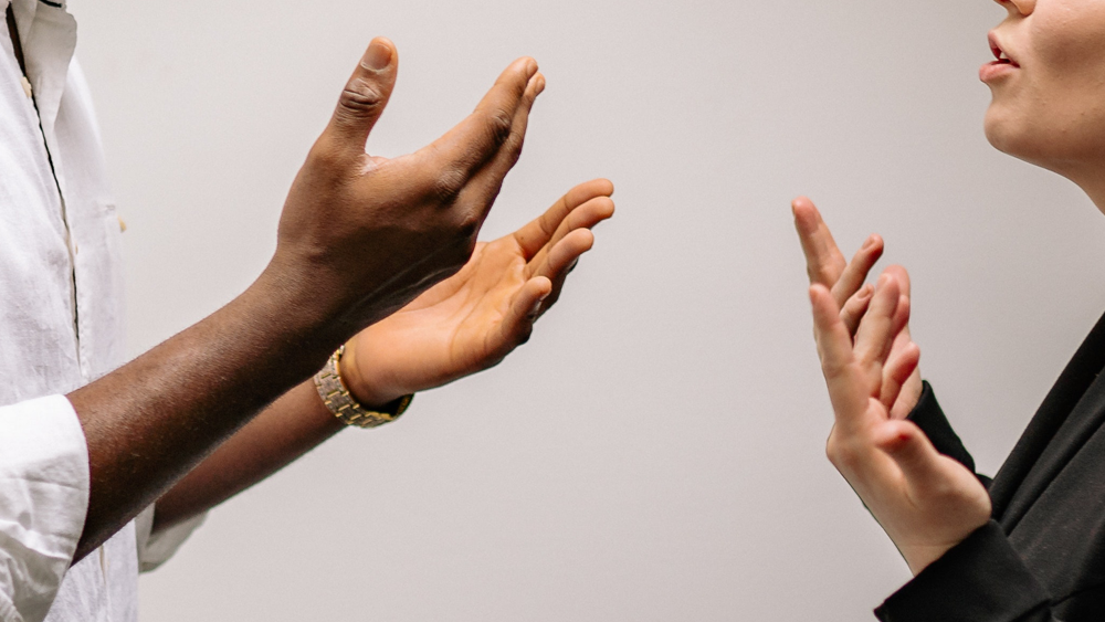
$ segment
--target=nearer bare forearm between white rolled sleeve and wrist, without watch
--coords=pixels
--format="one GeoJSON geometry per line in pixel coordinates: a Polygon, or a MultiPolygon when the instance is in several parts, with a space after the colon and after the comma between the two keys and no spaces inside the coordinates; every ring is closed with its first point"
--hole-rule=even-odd
{"type": "Polygon", "coordinates": [[[270,401],[311,376],[341,337],[262,276],[242,296],[69,396],[92,485],[80,560],[154,503],[270,401]]]}

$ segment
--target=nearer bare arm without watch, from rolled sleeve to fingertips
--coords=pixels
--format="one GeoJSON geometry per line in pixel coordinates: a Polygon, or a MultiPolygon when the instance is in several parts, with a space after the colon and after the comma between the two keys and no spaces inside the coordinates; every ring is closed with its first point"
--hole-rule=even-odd
{"type": "Polygon", "coordinates": [[[69,396],[92,471],[75,560],[338,345],[467,262],[544,77],[533,59],[515,61],[460,125],[388,160],[365,144],[397,70],[391,42],[373,40],[296,177],[273,260],[246,292],[69,396]]]}

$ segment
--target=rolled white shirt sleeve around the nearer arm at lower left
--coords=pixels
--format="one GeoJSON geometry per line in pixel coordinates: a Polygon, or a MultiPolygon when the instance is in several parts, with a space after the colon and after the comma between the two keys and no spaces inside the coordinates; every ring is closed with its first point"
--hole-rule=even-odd
{"type": "Polygon", "coordinates": [[[0,408],[0,620],[41,622],[88,509],[88,446],[62,396],[0,408]]]}

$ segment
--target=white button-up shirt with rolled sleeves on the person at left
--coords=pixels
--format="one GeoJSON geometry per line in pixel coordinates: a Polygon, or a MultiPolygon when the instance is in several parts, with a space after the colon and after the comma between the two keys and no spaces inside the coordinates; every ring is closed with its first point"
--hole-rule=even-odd
{"type": "Polygon", "coordinates": [[[122,221],[76,23],[64,2],[10,1],[28,81],[0,28],[0,621],[134,622],[139,566],[198,521],[150,541],[150,508],[71,567],[90,475],[63,394],[125,362],[122,221]]]}

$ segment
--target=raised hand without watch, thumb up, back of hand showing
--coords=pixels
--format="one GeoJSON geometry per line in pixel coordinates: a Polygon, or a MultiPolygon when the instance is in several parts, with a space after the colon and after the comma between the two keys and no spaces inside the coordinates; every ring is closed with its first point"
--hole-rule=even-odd
{"type": "Polygon", "coordinates": [[[344,340],[454,273],[517,161],[545,86],[533,59],[511,64],[475,112],[414,154],[365,144],[396,83],[391,42],[372,41],[288,193],[263,281],[320,309],[344,340]]]}

